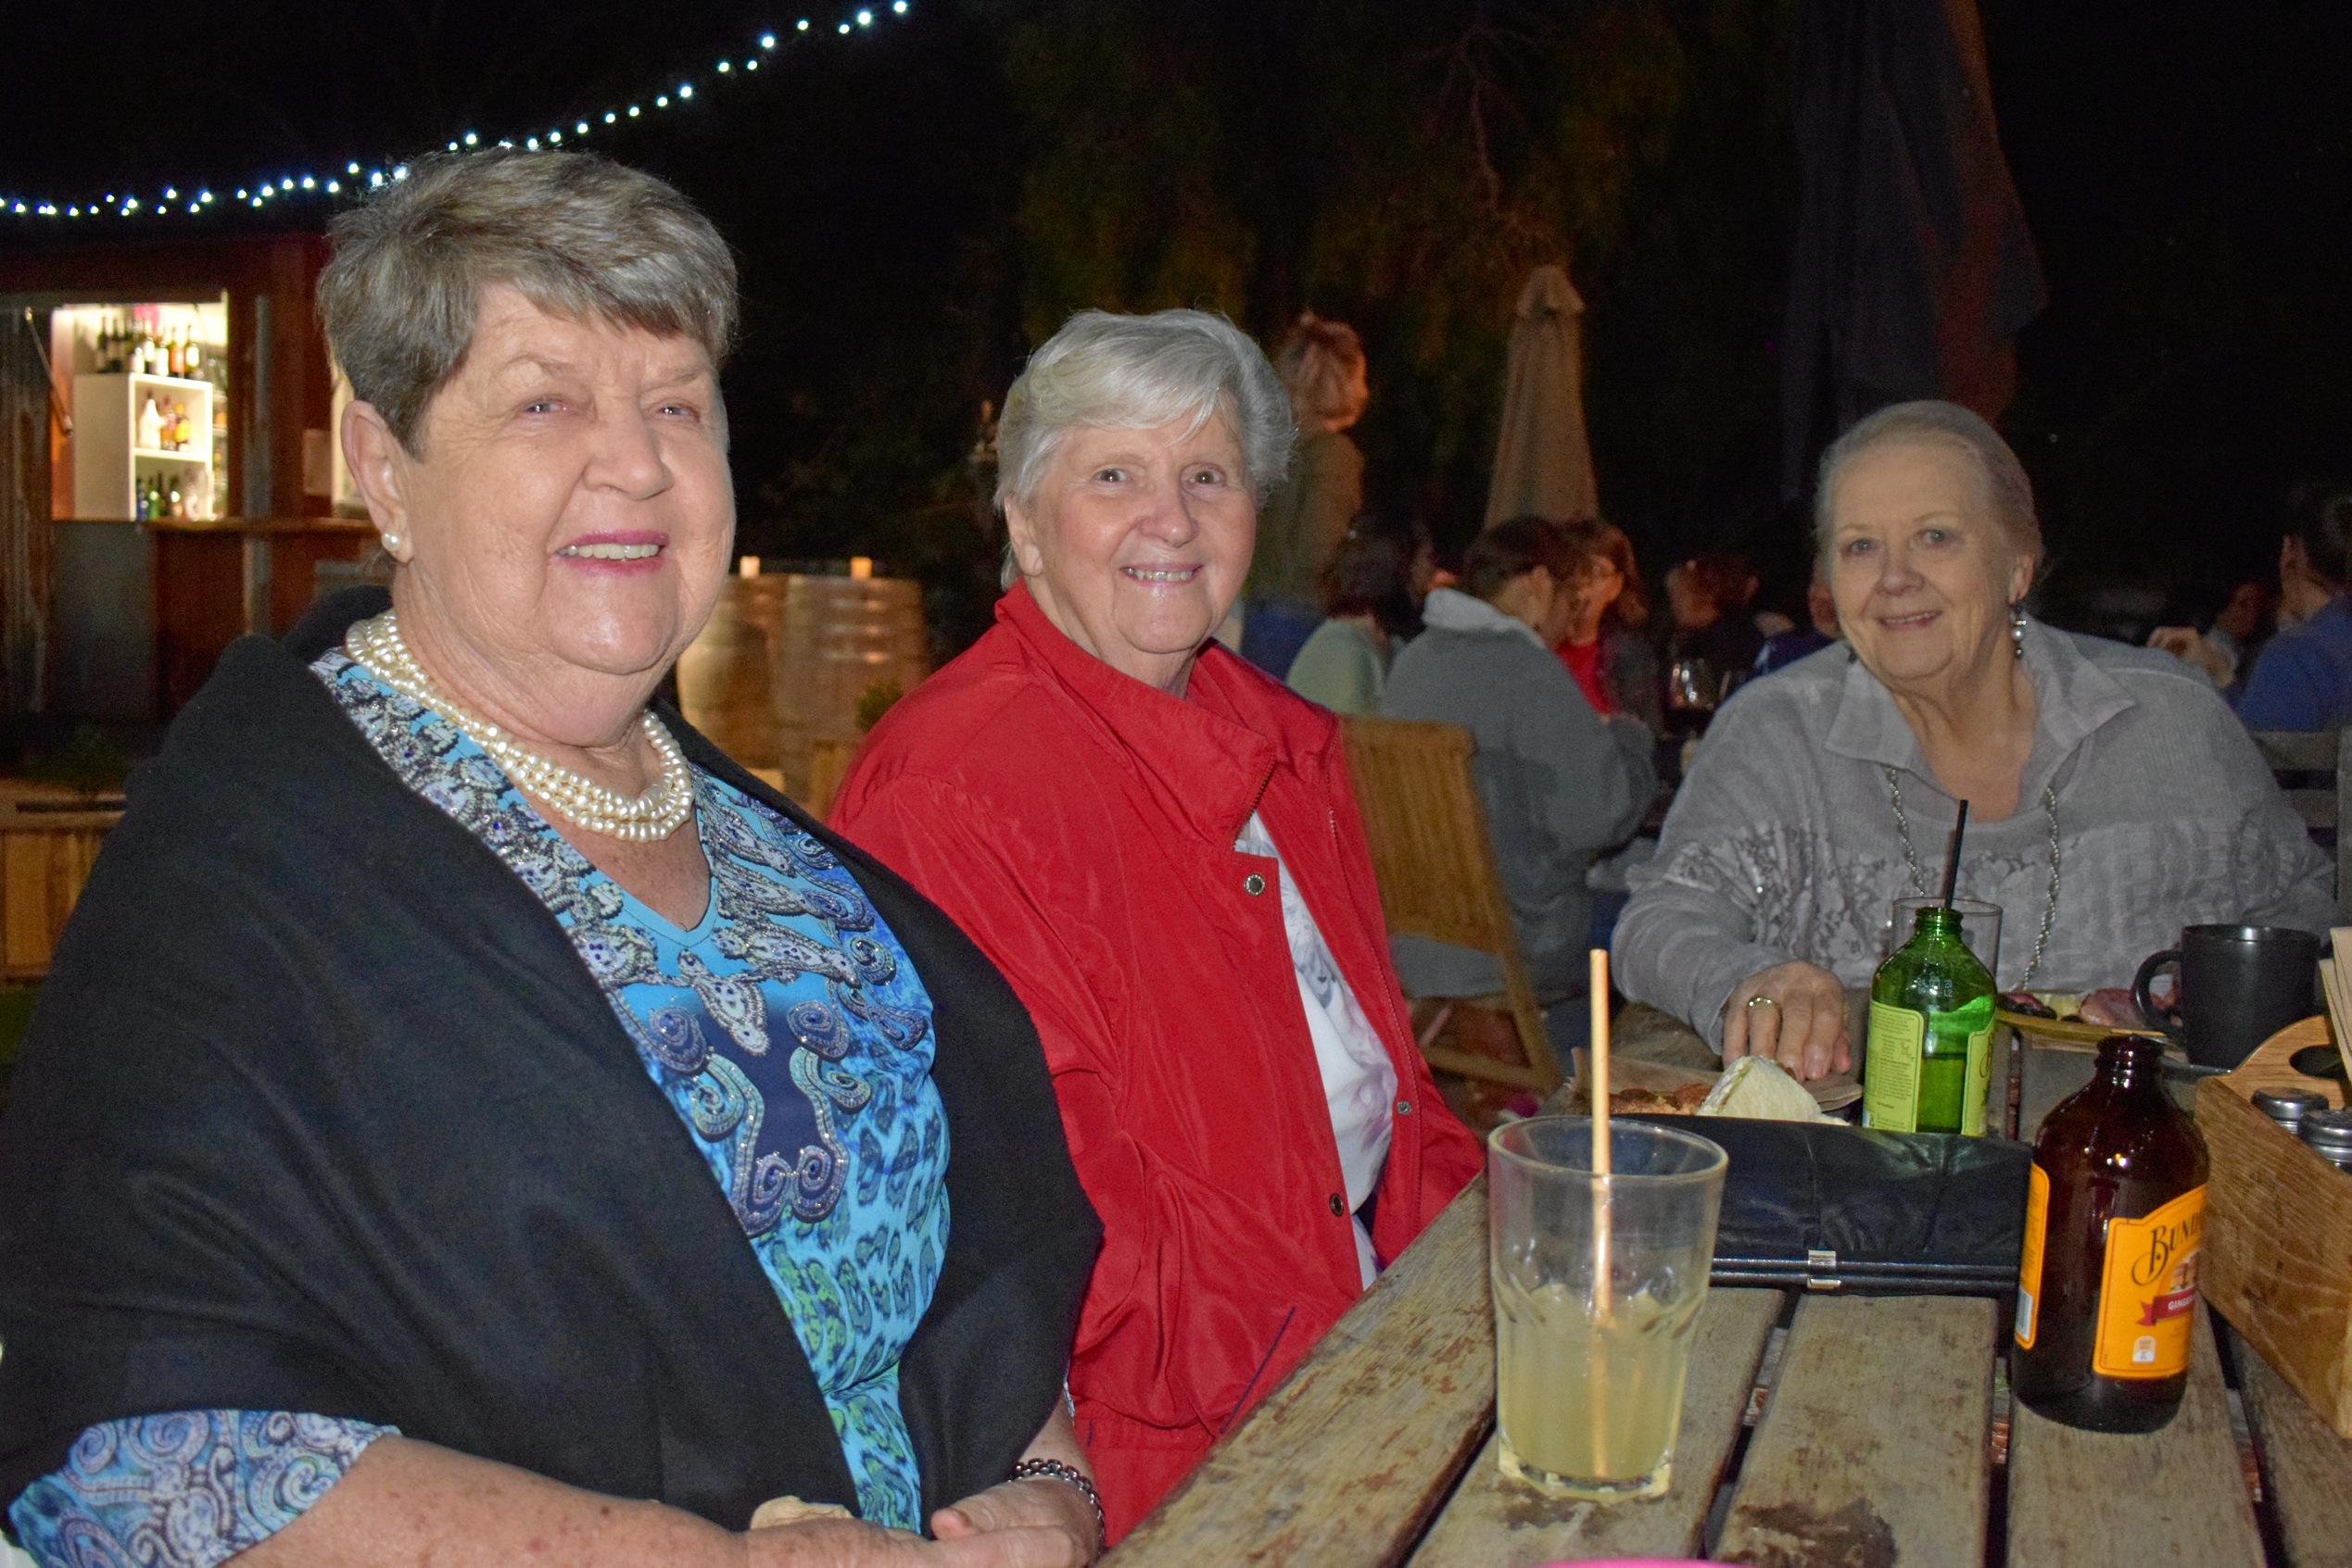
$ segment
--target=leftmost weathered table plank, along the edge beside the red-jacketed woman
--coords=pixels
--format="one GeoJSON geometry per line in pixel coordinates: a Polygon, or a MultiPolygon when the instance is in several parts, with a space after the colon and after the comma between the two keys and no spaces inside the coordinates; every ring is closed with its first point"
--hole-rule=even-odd
{"type": "Polygon", "coordinates": [[[1105,1563],[1399,1563],[1491,1425],[1479,1178],[1105,1563]]]}

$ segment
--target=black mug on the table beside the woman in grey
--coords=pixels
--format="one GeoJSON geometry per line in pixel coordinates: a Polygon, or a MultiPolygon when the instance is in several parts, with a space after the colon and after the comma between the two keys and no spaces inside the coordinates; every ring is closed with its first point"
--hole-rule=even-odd
{"type": "Polygon", "coordinates": [[[2199,1067],[2237,1067],[2291,1023],[2310,1018],[2319,938],[2288,926],[2190,926],[2178,947],[2147,954],[2131,980],[2140,1016],[2171,1034],[2199,1067]],[[2180,969],[2173,1009],[2147,983],[2180,969]]]}

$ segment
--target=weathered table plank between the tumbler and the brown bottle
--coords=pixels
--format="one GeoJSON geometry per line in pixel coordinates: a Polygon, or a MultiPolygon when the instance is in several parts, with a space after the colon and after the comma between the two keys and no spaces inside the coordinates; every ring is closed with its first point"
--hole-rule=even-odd
{"type": "Polygon", "coordinates": [[[1987,1300],[1799,1302],[1712,1559],[1983,1568],[1992,1333],[1987,1300]]]}

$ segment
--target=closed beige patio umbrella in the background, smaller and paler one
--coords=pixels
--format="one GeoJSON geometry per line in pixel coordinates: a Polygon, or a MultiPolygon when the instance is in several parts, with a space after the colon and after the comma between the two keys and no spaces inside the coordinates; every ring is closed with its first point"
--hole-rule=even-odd
{"type": "Polygon", "coordinates": [[[1538,266],[1519,289],[1486,491],[1489,529],[1510,517],[1599,517],[1585,437],[1583,310],[1562,266],[1538,266]]]}

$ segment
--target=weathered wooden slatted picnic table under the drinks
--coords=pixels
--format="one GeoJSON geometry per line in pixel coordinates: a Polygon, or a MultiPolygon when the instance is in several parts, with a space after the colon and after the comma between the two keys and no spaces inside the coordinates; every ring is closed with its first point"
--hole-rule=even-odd
{"type": "Polygon", "coordinates": [[[2211,1321],[2180,1415],[2107,1436],[2011,1408],[2002,1316],[1973,1298],[1710,1291],[1668,1495],[1545,1500],[1496,1467],[1479,1180],[1108,1563],[2352,1563],[2352,1443],[2211,1321]]]}

